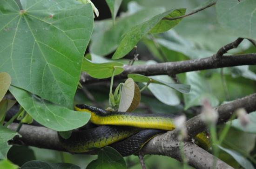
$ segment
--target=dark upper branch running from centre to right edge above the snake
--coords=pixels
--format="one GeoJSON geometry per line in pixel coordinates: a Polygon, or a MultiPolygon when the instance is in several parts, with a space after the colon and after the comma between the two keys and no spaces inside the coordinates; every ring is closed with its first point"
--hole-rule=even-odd
{"type": "MultiPolygon", "coordinates": [[[[236,56],[223,56],[219,59],[215,57],[206,57],[202,59],[187,60],[180,62],[167,62],[157,63],[150,65],[134,65],[124,66],[124,71],[120,75],[116,75],[115,79],[125,79],[128,74],[136,73],[141,75],[176,75],[179,73],[216,69],[241,65],[254,65],[256,64],[256,53],[236,55],[236,56]]],[[[87,73],[82,73],[80,82],[81,84],[91,84],[100,81],[108,81],[109,79],[95,79],[87,73]]]]}

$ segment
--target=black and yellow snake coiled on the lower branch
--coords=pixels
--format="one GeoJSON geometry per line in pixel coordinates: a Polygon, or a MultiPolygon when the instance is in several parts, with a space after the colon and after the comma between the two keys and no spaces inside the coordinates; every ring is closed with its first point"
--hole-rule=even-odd
{"type": "MultiPolygon", "coordinates": [[[[177,115],[160,113],[107,112],[94,106],[75,105],[74,110],[91,114],[95,128],[73,131],[67,139],[59,135],[61,145],[69,152],[83,153],[94,148],[111,146],[122,156],[135,154],[152,138],[175,129],[177,115]]],[[[206,131],[194,137],[195,143],[208,150],[210,141],[206,131]]]]}

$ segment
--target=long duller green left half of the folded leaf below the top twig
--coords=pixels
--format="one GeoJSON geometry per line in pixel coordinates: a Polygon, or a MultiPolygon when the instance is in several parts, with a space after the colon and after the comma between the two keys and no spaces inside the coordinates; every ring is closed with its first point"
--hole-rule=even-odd
{"type": "Polygon", "coordinates": [[[165,13],[156,15],[148,21],[131,28],[122,38],[121,43],[112,56],[112,59],[120,59],[128,54],[144,35],[146,35],[161,19],[173,11],[174,10],[172,9],[165,13]]]}

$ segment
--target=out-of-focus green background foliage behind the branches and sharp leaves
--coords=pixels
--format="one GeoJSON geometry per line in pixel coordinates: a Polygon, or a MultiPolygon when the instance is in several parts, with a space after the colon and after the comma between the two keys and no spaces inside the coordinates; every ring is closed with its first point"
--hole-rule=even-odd
{"type": "MultiPolygon", "coordinates": [[[[113,55],[117,47],[116,44],[120,41],[121,34],[135,24],[135,22],[141,22],[141,20],[148,19],[166,9],[186,8],[187,13],[189,13],[189,11],[203,6],[204,0],[123,0],[115,22],[116,25],[120,23],[121,26],[114,30],[110,29],[113,23],[105,0],[92,0],[92,2],[98,8],[100,16],[95,19],[94,33],[87,52],[92,54],[93,60],[99,60],[102,58],[97,55],[106,56],[107,59],[113,55]],[[141,9],[144,11],[141,11],[141,9]],[[131,17],[131,14],[134,17],[131,17]],[[107,38],[104,37],[104,33],[107,38]],[[109,38],[112,40],[108,41],[109,38]],[[108,48],[106,46],[104,47],[106,44],[108,44],[108,48]]],[[[222,27],[216,20],[215,7],[210,7],[202,12],[182,19],[170,31],[144,37],[137,45],[137,53],[139,54],[140,61],[136,61],[135,64],[144,64],[148,60],[173,62],[212,56],[219,48],[225,44],[229,44],[236,38],[222,30],[222,27]],[[158,48],[162,50],[162,53],[159,52],[158,48]]],[[[256,48],[249,41],[244,40],[237,49],[230,50],[229,54],[252,52],[256,52],[256,48]]],[[[128,56],[119,62],[128,63],[129,59],[133,58],[133,53],[134,51],[130,52],[128,56]]],[[[168,76],[164,76],[163,78],[171,80],[168,76]]],[[[235,100],[256,92],[255,66],[239,66],[225,68],[223,70],[204,70],[201,72],[179,74],[177,78],[181,83],[191,85],[191,92],[189,94],[180,94],[171,88],[160,88],[159,85],[155,84],[155,86],[152,85],[151,88],[142,92],[141,104],[135,112],[182,112],[188,117],[193,117],[199,113],[196,106],[201,105],[201,99],[205,96],[210,100],[212,106],[218,106],[223,101],[235,100]],[[150,92],[155,90],[157,92],[150,92]],[[172,100],[168,100],[164,104],[162,102],[166,98],[163,95],[167,91],[171,92],[173,97],[172,100]]],[[[117,84],[118,81],[115,81],[115,85],[117,84]]],[[[144,86],[143,84],[138,85],[140,87],[144,86]]],[[[77,91],[74,104],[88,104],[106,108],[108,107],[108,92],[108,82],[101,82],[97,85],[86,85],[85,88],[77,91]]],[[[246,157],[249,163],[252,163],[255,167],[256,131],[253,129],[256,128],[256,112],[250,114],[250,119],[251,126],[249,126],[249,129],[251,130],[244,129],[239,126],[239,123],[234,122],[222,146],[246,157]]],[[[221,130],[222,125],[218,126],[218,129],[221,130]]],[[[240,168],[240,164],[236,162],[230,153],[221,151],[219,157],[229,163],[229,165],[240,168]]],[[[50,163],[74,163],[81,168],[85,168],[88,163],[96,158],[96,156],[71,155],[54,150],[43,150],[34,147],[26,148],[23,146],[13,146],[8,152],[8,159],[19,165],[29,160],[37,159],[50,163]],[[21,156],[16,158],[19,153],[21,153],[21,156]],[[22,154],[26,154],[26,156],[22,156],[22,154]]],[[[128,156],[125,160],[128,164],[128,169],[141,169],[137,156],[128,156]]],[[[145,156],[145,163],[147,169],[179,169],[182,167],[180,162],[166,156],[145,156]]]]}

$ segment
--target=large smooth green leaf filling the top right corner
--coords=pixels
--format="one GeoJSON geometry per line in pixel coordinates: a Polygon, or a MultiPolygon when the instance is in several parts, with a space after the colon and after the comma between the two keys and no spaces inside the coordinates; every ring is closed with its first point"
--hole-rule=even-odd
{"type": "Polygon", "coordinates": [[[218,0],[216,13],[218,22],[227,33],[256,40],[255,0],[218,0]]]}

